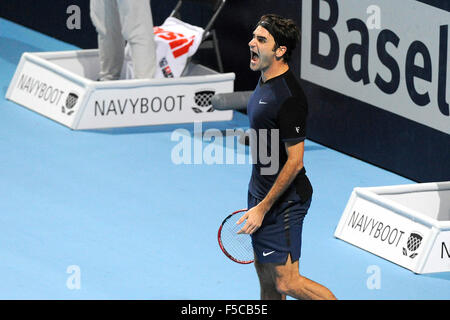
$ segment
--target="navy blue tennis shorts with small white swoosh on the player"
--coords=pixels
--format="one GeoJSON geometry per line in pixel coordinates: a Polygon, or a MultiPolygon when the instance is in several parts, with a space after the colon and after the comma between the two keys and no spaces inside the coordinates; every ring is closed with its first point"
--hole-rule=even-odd
{"type": "MultiPolygon", "coordinates": [[[[261,200],[248,193],[248,208],[261,200]]],[[[261,227],[251,235],[255,259],[259,263],[285,264],[291,254],[292,262],[300,259],[303,219],[311,199],[305,203],[290,200],[276,202],[266,213],[261,227]]]]}

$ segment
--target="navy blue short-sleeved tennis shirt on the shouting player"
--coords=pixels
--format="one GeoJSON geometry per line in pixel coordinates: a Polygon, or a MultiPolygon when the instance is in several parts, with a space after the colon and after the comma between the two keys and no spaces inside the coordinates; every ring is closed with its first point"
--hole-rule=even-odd
{"type": "MultiPolygon", "coordinates": [[[[257,155],[253,159],[249,192],[262,200],[287,161],[284,143],[301,142],[306,138],[308,104],[292,71],[266,82],[260,78],[247,104],[247,115],[251,131],[256,133],[250,138],[252,156],[257,155]],[[271,159],[270,163],[268,159],[271,159]],[[268,170],[277,161],[278,166],[268,170]]],[[[305,173],[303,168],[281,196],[281,201],[300,200],[303,203],[311,198],[313,190],[305,173]]]]}

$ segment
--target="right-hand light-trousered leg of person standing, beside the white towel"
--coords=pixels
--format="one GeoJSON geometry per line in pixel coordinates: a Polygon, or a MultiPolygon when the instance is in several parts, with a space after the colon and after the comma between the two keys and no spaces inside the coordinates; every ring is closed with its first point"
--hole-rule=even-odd
{"type": "Polygon", "coordinates": [[[156,71],[156,46],[149,0],[118,2],[122,34],[131,47],[134,77],[153,78],[156,71]]]}

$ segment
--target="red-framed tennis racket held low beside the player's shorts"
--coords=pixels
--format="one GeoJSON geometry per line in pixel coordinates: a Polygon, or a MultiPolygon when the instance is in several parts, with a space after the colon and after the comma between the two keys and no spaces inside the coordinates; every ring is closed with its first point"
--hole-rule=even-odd
{"type": "Polygon", "coordinates": [[[247,212],[242,209],[233,212],[226,217],[220,225],[217,239],[220,249],[232,261],[249,264],[254,261],[252,240],[249,234],[237,234],[242,228],[236,222],[247,212]]]}

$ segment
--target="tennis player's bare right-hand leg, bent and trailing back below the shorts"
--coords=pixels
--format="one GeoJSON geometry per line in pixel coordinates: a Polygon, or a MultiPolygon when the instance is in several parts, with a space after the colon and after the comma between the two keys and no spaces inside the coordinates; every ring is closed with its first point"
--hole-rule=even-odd
{"type": "Polygon", "coordinates": [[[279,293],[302,300],[336,300],[329,289],[301,276],[298,260],[292,262],[290,255],[286,264],[276,265],[273,268],[275,285],[279,293]]]}

